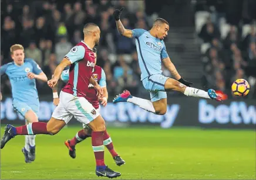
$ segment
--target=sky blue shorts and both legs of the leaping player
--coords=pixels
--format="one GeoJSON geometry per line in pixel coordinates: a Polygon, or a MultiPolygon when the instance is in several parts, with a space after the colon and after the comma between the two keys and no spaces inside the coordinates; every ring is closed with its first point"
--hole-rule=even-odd
{"type": "Polygon", "coordinates": [[[137,98],[132,96],[129,91],[124,91],[122,94],[117,95],[116,98],[114,98],[113,103],[131,102],[149,112],[153,112],[157,115],[164,115],[167,110],[167,95],[164,91],[179,91],[186,96],[221,101],[221,98],[213,89],[209,89],[208,92],[206,92],[200,89],[191,88],[175,79],[164,77],[161,74],[151,75],[151,77],[143,79],[142,82],[144,88],[150,91],[151,101],[137,98]]]}

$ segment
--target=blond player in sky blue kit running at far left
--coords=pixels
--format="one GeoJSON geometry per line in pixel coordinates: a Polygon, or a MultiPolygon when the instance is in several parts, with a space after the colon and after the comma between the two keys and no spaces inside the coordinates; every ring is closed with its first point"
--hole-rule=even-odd
{"type": "MultiPolygon", "coordinates": [[[[11,57],[14,61],[1,66],[1,76],[8,75],[12,85],[14,109],[25,117],[26,124],[31,124],[38,122],[39,111],[35,79],[47,82],[47,77],[34,60],[24,56],[23,46],[14,44],[11,47],[11,57]]],[[[35,160],[35,135],[25,136],[25,147],[22,148],[22,153],[25,155],[25,162],[35,160]]]]}

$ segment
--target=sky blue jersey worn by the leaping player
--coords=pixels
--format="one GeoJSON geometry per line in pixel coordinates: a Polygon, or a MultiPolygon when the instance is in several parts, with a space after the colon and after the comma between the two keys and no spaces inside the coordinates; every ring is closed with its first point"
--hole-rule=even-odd
{"type": "Polygon", "coordinates": [[[139,58],[141,80],[153,74],[161,74],[161,60],[169,57],[163,40],[151,36],[144,29],[133,29],[133,38],[136,39],[136,49],[139,58]]]}

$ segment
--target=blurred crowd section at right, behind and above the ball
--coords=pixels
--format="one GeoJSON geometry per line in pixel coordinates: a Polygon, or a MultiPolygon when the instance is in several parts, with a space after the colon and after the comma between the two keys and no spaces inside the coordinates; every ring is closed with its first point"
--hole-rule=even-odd
{"type": "MultiPolygon", "coordinates": [[[[201,51],[204,64],[203,85],[207,88],[215,87],[231,95],[231,84],[235,79],[243,78],[251,85],[250,97],[255,97],[256,16],[247,16],[245,19],[242,13],[233,9],[233,13],[238,15],[231,18],[227,12],[218,9],[221,8],[216,8],[216,5],[208,8],[210,16],[206,17],[206,22],[198,33],[201,44],[206,47],[201,51]],[[221,18],[227,24],[221,25],[221,18]],[[243,34],[245,25],[250,30],[243,34]]],[[[256,12],[256,6],[254,9],[256,12]]]]}

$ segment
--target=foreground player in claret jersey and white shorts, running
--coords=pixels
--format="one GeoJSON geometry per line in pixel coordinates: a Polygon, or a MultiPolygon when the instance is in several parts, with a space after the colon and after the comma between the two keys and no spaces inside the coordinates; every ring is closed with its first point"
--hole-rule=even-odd
{"type": "Polygon", "coordinates": [[[1,148],[16,135],[58,133],[75,116],[79,122],[87,124],[92,129],[92,147],[96,159],[96,175],[115,178],[120,176],[105,165],[103,137],[106,133],[105,120],[99,112],[87,101],[89,84],[97,90],[98,98],[102,98],[102,88],[92,78],[95,67],[93,47],[99,44],[100,29],[94,23],[87,23],[83,28],[84,39],[73,47],[56,67],[53,78],[48,81],[50,88],[58,84],[65,67],[69,66],[69,81],[60,92],[59,105],[53,111],[48,123],[36,122],[31,126],[14,127],[8,124],[1,140],[1,148]]]}

